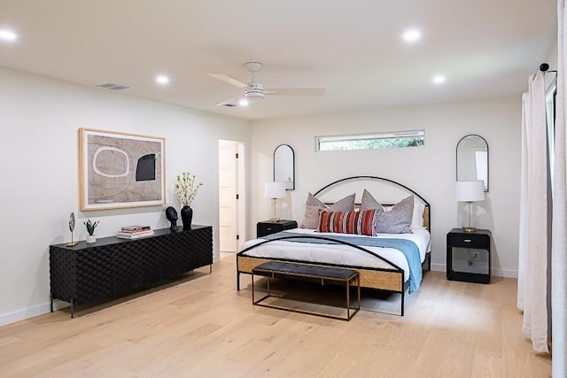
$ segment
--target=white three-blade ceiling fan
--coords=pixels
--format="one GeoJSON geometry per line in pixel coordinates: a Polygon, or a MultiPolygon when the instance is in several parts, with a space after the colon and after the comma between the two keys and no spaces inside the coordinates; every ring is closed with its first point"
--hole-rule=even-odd
{"type": "Polygon", "coordinates": [[[277,89],[264,89],[264,86],[257,80],[256,74],[262,69],[260,62],[248,62],[245,67],[252,73],[252,78],[245,84],[242,81],[237,81],[222,73],[208,73],[215,79],[224,81],[235,87],[244,89],[244,93],[240,96],[234,96],[228,100],[222,101],[217,106],[245,106],[250,100],[257,100],[264,98],[266,95],[274,96],[322,96],[325,93],[324,88],[277,88],[277,89]]]}

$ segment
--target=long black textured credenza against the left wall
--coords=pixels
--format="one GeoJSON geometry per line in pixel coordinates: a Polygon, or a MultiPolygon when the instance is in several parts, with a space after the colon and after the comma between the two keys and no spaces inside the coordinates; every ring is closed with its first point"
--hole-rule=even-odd
{"type": "Polygon", "coordinates": [[[130,289],[146,288],[153,282],[213,264],[213,228],[193,225],[154,230],[139,239],[115,236],[96,243],[50,245],[50,301],[60,299],[74,305],[112,297],[130,289]]]}

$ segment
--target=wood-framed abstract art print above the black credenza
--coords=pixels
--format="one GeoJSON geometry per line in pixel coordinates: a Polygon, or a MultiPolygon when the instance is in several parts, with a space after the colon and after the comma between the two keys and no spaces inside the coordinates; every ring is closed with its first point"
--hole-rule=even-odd
{"type": "Polygon", "coordinates": [[[165,204],[165,138],[79,129],[82,211],[165,204]]]}

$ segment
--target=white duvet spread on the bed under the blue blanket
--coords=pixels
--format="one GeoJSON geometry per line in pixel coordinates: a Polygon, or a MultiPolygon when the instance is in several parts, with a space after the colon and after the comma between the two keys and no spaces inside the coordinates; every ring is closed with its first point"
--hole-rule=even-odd
{"type": "MultiPolygon", "coordinates": [[[[379,234],[377,236],[350,235],[350,234],[334,234],[334,233],[318,233],[315,229],[294,228],[287,232],[307,234],[307,235],[341,235],[355,237],[377,237],[390,239],[408,239],[416,243],[419,249],[421,262],[425,259],[425,254],[431,251],[431,237],[429,231],[425,228],[412,228],[413,234],[379,234]]],[[[240,251],[261,243],[265,239],[252,239],[243,244],[240,251]]],[[[404,254],[396,249],[362,246],[376,253],[378,256],[386,258],[404,271],[404,282],[409,278],[408,261],[404,254]]],[[[328,263],[340,266],[364,266],[374,268],[392,268],[392,266],[383,260],[376,258],[364,251],[349,247],[342,244],[319,244],[319,243],[294,243],[289,241],[273,241],[262,244],[250,251],[244,253],[245,256],[259,258],[285,258],[306,262],[328,263]]]]}

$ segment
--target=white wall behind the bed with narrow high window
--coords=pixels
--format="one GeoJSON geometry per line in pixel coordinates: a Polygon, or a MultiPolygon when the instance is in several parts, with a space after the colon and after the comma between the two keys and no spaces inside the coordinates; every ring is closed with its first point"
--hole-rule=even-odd
{"type": "MultiPolygon", "coordinates": [[[[282,204],[280,218],[300,222],[307,192],[343,177],[372,174],[399,181],[431,204],[432,267],[445,270],[446,235],[460,227],[454,201],[455,147],[462,136],[478,134],[489,146],[490,190],[480,228],[493,231],[493,274],[517,276],[518,204],[521,153],[521,98],[497,98],[352,112],[252,123],[252,214],[270,215],[262,185],[272,181],[273,151],[288,143],[296,154],[296,190],[282,204]],[[425,129],[423,148],[315,152],[315,135],[425,129]]],[[[360,200],[361,193],[357,194],[360,200]]]]}

